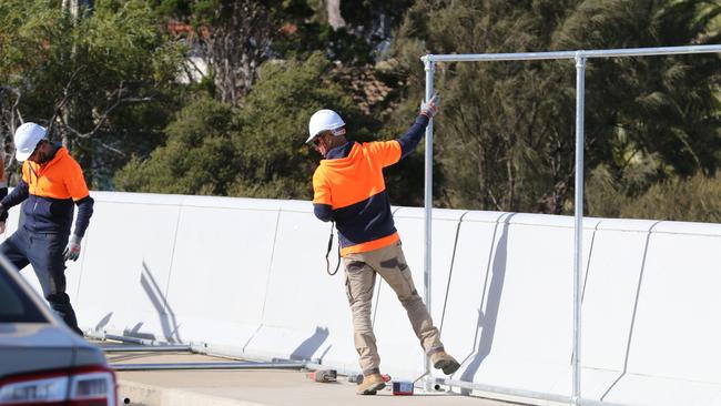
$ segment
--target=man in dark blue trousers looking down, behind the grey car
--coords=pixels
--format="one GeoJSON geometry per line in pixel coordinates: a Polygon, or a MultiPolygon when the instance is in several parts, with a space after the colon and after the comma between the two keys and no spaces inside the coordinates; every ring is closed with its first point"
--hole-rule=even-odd
{"type": "Polygon", "coordinates": [[[16,159],[22,162],[22,179],[0,201],[0,232],[4,232],[8,210],[24,202],[24,222],[0,244],[0,253],[18,270],[28,264],[35,271],[45,300],[81,336],[75,312],[65,293],[65,261],[77,261],[80,242],[93,213],[93,199],[82,170],[68,150],[52,143],[44,128],[24,123],[14,134],[16,159]],[[75,230],[70,236],[74,205],[75,230]]]}

